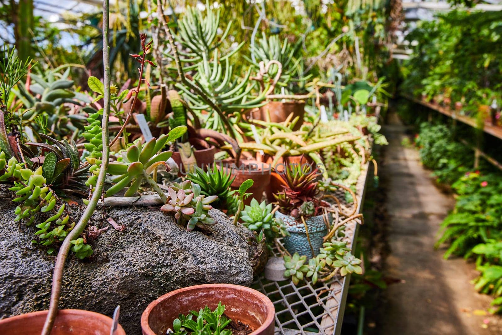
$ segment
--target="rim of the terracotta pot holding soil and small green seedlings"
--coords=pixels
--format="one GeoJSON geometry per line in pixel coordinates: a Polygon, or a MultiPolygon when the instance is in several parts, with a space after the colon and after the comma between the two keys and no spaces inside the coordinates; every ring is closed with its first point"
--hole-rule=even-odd
{"type": "Polygon", "coordinates": [[[269,299],[269,297],[267,297],[262,292],[254,290],[250,287],[233,285],[233,284],[201,284],[201,285],[193,285],[193,286],[183,287],[183,288],[171,291],[169,293],[161,295],[159,298],[152,301],[147,306],[147,308],[143,311],[143,314],[141,315],[141,327],[142,327],[143,333],[146,335],[158,335],[150,328],[150,325],[148,323],[148,316],[150,315],[152,309],[154,309],[161,301],[166,300],[168,297],[171,297],[175,294],[180,294],[180,293],[183,293],[186,291],[191,291],[194,289],[206,289],[206,288],[212,289],[212,288],[216,288],[216,287],[223,287],[223,288],[229,288],[229,289],[233,289],[233,290],[245,291],[248,294],[254,295],[255,297],[257,297],[259,300],[261,300],[267,306],[267,310],[268,310],[267,318],[265,319],[265,321],[262,323],[262,325],[258,329],[254,330],[249,335],[258,334],[259,332],[267,329],[267,327],[269,327],[269,325],[271,323],[275,322],[276,313],[275,313],[274,304],[269,299]]]}

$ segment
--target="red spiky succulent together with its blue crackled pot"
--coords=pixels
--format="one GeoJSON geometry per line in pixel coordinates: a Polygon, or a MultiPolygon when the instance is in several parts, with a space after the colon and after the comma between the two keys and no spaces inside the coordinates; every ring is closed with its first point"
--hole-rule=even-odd
{"type": "Polygon", "coordinates": [[[285,185],[274,196],[279,205],[275,216],[284,221],[289,233],[284,246],[291,254],[315,257],[332,221],[324,210],[331,205],[318,189],[319,172],[310,165],[289,165],[281,177],[285,185]]]}

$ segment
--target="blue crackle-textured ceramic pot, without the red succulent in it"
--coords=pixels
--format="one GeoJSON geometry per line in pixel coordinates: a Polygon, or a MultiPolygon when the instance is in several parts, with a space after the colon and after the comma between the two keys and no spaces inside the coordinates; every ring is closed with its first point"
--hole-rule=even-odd
{"type": "MultiPolygon", "coordinates": [[[[287,227],[286,230],[290,234],[290,236],[283,238],[286,250],[291,255],[298,253],[300,256],[305,255],[307,258],[312,258],[312,249],[310,248],[303,222],[301,220],[297,222],[293,216],[283,214],[279,210],[276,211],[276,217],[284,221],[287,227]]],[[[328,219],[331,224],[333,219],[332,215],[328,214],[328,219]]],[[[314,249],[314,256],[317,256],[319,254],[319,249],[322,248],[323,238],[328,234],[323,215],[306,217],[305,223],[309,230],[310,244],[312,244],[312,248],[314,249]]]]}

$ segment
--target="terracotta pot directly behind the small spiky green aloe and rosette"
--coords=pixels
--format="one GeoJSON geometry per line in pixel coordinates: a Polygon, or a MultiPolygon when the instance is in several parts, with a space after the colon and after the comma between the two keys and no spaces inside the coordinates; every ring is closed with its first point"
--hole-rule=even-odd
{"type": "Polygon", "coordinates": [[[253,198],[259,202],[262,201],[263,191],[270,183],[270,170],[267,170],[268,164],[255,160],[241,160],[237,168],[232,168],[233,163],[230,161],[224,161],[224,163],[226,165],[223,166],[223,169],[230,170],[232,178],[235,177],[230,185],[232,189],[238,189],[247,179],[253,179],[254,181],[253,186],[247,190],[247,193],[253,193],[253,195],[244,199],[244,204],[249,205],[253,198]]]}

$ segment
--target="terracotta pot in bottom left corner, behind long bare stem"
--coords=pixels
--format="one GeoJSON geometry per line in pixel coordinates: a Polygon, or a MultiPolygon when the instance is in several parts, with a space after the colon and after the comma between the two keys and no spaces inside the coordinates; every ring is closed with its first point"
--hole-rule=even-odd
{"type": "MultiPolygon", "coordinates": [[[[0,334],[40,335],[47,310],[26,313],[0,320],[0,334]]],[[[81,309],[61,309],[51,335],[109,335],[113,320],[103,314],[81,309]]],[[[115,335],[126,335],[118,325],[115,335]]]]}

